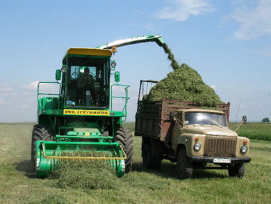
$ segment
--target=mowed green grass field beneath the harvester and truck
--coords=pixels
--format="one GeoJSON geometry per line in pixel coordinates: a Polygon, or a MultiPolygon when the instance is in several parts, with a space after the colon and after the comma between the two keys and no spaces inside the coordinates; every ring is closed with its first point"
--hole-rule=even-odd
{"type": "MultiPolygon", "coordinates": [[[[163,161],[160,171],[142,168],[141,138],[134,136],[133,171],[123,178],[116,178],[114,189],[61,189],[58,187],[58,179],[36,178],[31,172],[32,128],[31,123],[0,124],[0,203],[270,203],[271,201],[271,141],[251,140],[249,154],[252,162],[247,164],[244,178],[229,178],[226,170],[198,170],[195,178],[179,180],[176,178],[176,166],[172,162],[163,161]]],[[[270,130],[271,125],[249,124],[249,128],[251,131],[257,129],[258,133],[253,132],[254,135],[270,130]],[[261,127],[258,128],[258,125],[261,127]]],[[[248,136],[249,132],[246,134],[248,136]]],[[[271,137],[271,131],[267,134],[271,137]]]]}

